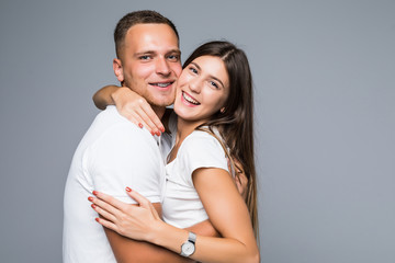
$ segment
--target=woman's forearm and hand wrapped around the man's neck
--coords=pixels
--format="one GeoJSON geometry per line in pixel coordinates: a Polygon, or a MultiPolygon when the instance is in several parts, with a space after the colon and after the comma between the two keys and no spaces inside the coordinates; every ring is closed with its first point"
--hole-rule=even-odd
{"type": "Polygon", "coordinates": [[[100,110],[115,105],[121,115],[139,127],[146,127],[153,135],[165,132],[149,103],[127,87],[106,85],[97,91],[92,99],[100,110]]]}

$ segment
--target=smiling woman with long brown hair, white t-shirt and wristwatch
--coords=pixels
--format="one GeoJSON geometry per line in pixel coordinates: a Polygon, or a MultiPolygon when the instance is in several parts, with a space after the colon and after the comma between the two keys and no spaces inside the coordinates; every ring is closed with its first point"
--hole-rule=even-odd
{"type": "Polygon", "coordinates": [[[259,262],[251,93],[242,50],[227,42],[200,46],[187,59],[177,85],[177,136],[168,156],[162,203],[166,222],[131,188],[126,190],[140,206],[127,209],[122,202],[95,193],[92,207],[103,217],[97,220],[125,237],[177,253],[182,244],[183,255],[196,261],[259,262]],[[248,208],[227,160],[230,171],[237,160],[248,179],[248,208]],[[195,237],[182,229],[207,217],[223,238],[195,237]],[[192,240],[183,244],[187,237],[192,240]],[[193,243],[195,251],[185,250],[193,243]]]}

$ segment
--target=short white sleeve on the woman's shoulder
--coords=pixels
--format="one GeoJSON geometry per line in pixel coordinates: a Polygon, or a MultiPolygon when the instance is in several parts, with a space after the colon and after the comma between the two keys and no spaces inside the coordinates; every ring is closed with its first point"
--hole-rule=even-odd
{"type": "Polygon", "coordinates": [[[193,186],[192,173],[200,168],[219,168],[228,171],[225,151],[219,141],[205,132],[193,132],[182,144],[178,158],[184,168],[184,179],[193,186]]]}

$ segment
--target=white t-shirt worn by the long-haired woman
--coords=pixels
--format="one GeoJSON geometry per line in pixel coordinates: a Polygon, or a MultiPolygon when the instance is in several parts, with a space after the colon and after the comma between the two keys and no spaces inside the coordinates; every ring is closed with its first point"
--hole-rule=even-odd
{"type": "Polygon", "coordinates": [[[194,130],[180,146],[177,158],[166,165],[162,203],[166,222],[187,228],[208,218],[192,181],[192,173],[199,168],[228,171],[226,155],[219,141],[208,133],[194,130]]]}

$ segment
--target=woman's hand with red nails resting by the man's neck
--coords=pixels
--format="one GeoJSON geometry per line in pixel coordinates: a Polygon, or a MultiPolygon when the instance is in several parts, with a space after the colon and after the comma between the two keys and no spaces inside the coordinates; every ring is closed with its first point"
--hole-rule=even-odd
{"type": "Polygon", "coordinates": [[[146,127],[153,135],[160,135],[165,127],[148,102],[127,87],[120,87],[111,98],[121,115],[140,128],[146,127]]]}

